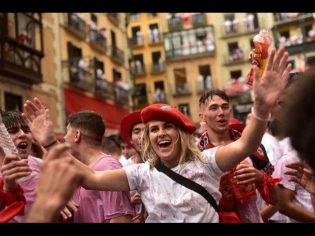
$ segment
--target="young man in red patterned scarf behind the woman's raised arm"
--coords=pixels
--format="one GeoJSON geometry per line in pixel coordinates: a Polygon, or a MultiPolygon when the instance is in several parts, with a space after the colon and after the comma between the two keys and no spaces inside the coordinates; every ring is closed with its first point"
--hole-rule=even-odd
{"type": "MultiPolygon", "coordinates": [[[[229,107],[229,99],[224,91],[212,89],[205,92],[199,100],[199,106],[201,110],[199,117],[208,126],[208,130],[197,143],[199,149],[205,150],[225,146],[241,137],[241,131],[231,129],[229,126],[232,109],[229,107]]],[[[254,183],[257,186],[264,182],[265,174],[261,171],[267,173],[269,177],[272,174],[272,165],[264,152],[263,147],[260,146],[256,153],[253,153],[251,157],[246,158],[235,167],[235,170],[233,170],[234,176],[228,175],[221,178],[220,189],[222,198],[220,206],[223,211],[235,212],[242,222],[258,223],[263,222],[263,220],[256,201],[250,201],[250,197],[247,197],[246,200],[244,200],[245,198],[238,199],[236,194],[233,194],[233,180],[235,178],[242,181],[248,179],[243,186],[251,189],[251,194],[249,195],[251,199],[255,199],[256,193],[252,184],[254,183]],[[247,204],[241,204],[241,202],[244,203],[245,201],[247,201],[247,204]],[[249,204],[249,202],[251,203],[249,204]]],[[[276,190],[276,187],[271,187],[270,203],[272,204],[278,202],[276,190]]],[[[262,194],[262,197],[264,198],[265,196],[262,194]]]]}

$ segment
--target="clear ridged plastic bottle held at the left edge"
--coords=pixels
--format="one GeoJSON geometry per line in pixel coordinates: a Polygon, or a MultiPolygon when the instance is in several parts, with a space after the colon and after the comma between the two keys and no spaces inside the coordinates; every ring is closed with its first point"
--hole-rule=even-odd
{"type": "MultiPolygon", "coordinates": [[[[7,129],[5,128],[3,122],[2,122],[2,117],[0,115],[0,147],[2,148],[3,152],[5,155],[10,155],[14,154],[17,156],[20,156],[18,153],[18,150],[16,149],[11,136],[9,135],[7,129]]],[[[31,173],[31,175],[27,177],[21,177],[16,179],[17,183],[23,182],[29,178],[31,178],[34,174],[31,173]]]]}

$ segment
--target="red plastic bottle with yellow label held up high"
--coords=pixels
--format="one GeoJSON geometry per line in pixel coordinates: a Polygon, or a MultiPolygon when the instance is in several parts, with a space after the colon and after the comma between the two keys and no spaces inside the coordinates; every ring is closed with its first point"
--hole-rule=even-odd
{"type": "MultiPolygon", "coordinates": [[[[259,34],[253,37],[252,39],[255,50],[254,54],[252,55],[252,66],[257,65],[260,69],[260,76],[261,78],[267,58],[268,58],[268,48],[272,44],[272,38],[268,35],[267,29],[260,29],[259,34]]],[[[246,78],[246,85],[250,88],[252,88],[252,82],[253,82],[253,69],[251,69],[250,73],[247,75],[246,78]]]]}

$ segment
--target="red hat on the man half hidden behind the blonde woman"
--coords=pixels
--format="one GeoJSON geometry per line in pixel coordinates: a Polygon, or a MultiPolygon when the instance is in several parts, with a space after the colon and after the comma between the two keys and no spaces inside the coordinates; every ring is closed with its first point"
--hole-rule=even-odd
{"type": "Polygon", "coordinates": [[[129,113],[122,119],[120,124],[120,133],[122,135],[122,138],[123,140],[125,140],[126,144],[129,145],[131,148],[134,148],[130,139],[131,129],[132,126],[135,125],[136,123],[142,122],[140,114],[141,111],[129,113]]]}

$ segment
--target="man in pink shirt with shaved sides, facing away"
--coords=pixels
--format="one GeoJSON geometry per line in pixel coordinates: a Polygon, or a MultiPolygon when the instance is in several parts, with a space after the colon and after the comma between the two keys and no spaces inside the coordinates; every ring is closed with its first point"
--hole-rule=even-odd
{"type": "MultiPolygon", "coordinates": [[[[119,169],[122,165],[118,159],[102,150],[104,133],[105,122],[99,114],[81,111],[68,118],[64,140],[70,146],[69,152],[92,170],[119,169]]],[[[129,191],[93,191],[79,187],[73,200],[79,205],[74,212],[75,223],[131,222],[129,191]]]]}

